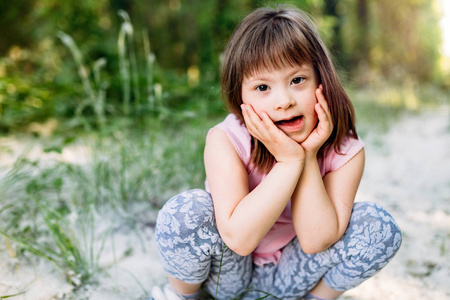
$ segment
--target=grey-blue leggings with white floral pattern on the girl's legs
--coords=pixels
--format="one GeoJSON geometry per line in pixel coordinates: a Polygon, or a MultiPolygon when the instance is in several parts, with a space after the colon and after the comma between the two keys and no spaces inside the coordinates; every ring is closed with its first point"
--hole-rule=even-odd
{"type": "Polygon", "coordinates": [[[206,291],[217,299],[239,295],[242,299],[256,299],[267,295],[259,291],[282,299],[297,299],[321,278],[335,290],[359,285],[393,258],[402,235],[381,206],[356,202],[347,231],[327,250],[306,254],[294,238],[282,250],[277,265],[257,266],[251,255],[240,256],[224,245],[210,194],[191,190],[173,197],[161,209],[156,241],[170,276],[187,283],[204,282],[206,291]]]}

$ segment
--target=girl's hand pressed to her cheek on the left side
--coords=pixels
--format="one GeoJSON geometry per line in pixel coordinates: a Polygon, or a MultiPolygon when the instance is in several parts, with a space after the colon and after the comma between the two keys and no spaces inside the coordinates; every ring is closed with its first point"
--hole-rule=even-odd
{"type": "Polygon", "coordinates": [[[242,104],[245,125],[252,136],[261,141],[277,162],[303,162],[302,146],[281,131],[265,112],[261,117],[250,104],[242,104]]]}

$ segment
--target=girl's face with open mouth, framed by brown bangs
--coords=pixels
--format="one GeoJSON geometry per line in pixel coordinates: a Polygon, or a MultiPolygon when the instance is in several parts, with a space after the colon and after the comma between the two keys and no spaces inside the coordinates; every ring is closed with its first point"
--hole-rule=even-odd
{"type": "Polygon", "coordinates": [[[251,104],[258,115],[266,112],[279,129],[301,143],[317,125],[314,106],[318,85],[311,64],[261,70],[244,78],[242,101],[251,104]]]}

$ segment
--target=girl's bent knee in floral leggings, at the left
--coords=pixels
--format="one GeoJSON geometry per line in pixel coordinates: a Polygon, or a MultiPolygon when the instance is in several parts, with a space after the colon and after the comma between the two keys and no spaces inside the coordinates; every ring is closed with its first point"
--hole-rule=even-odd
{"type": "Polygon", "coordinates": [[[203,190],[181,193],[163,206],[156,220],[156,245],[166,272],[187,282],[203,282],[222,240],[212,199],[203,190]]]}

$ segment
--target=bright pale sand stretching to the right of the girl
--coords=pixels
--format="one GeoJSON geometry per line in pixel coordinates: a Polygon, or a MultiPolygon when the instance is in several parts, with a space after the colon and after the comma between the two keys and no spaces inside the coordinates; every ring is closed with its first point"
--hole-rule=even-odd
{"type": "Polygon", "coordinates": [[[408,116],[366,144],[358,200],[388,209],[403,244],[384,270],[344,299],[450,299],[449,110],[408,116]]]}

